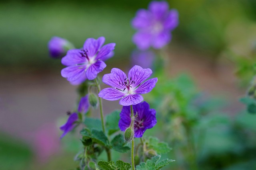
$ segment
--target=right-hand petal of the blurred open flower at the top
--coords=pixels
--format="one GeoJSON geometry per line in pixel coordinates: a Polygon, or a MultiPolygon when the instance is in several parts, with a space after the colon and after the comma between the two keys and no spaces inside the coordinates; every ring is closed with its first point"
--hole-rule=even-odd
{"type": "Polygon", "coordinates": [[[164,21],[164,28],[172,31],[179,24],[179,14],[177,10],[170,10],[166,20],[164,21]]]}

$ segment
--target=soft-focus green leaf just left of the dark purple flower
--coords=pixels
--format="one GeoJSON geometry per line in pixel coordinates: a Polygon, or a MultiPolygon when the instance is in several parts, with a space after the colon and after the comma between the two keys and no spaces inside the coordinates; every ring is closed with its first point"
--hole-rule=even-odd
{"type": "Polygon", "coordinates": [[[118,122],[120,119],[120,112],[120,110],[115,110],[106,116],[106,129],[108,131],[108,135],[112,135],[119,131],[118,122]]]}

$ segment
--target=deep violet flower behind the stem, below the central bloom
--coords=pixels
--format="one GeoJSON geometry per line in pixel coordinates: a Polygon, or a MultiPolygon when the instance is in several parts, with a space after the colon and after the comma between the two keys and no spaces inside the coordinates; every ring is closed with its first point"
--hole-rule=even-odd
{"type": "MultiPolygon", "coordinates": [[[[132,105],[132,109],[134,111],[134,115],[137,115],[134,120],[134,137],[142,137],[147,129],[156,125],[156,110],[150,109],[147,102],[132,105]]],[[[121,131],[125,131],[130,126],[130,115],[130,106],[123,106],[118,123],[121,131]]]]}

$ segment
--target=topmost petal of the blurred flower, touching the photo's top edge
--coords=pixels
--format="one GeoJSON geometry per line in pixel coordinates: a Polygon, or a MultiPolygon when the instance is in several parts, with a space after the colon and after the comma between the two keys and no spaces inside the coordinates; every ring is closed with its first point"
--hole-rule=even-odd
{"type": "Polygon", "coordinates": [[[165,17],[166,13],[168,12],[168,3],[165,1],[153,1],[149,4],[148,9],[156,19],[162,19],[165,17]]]}

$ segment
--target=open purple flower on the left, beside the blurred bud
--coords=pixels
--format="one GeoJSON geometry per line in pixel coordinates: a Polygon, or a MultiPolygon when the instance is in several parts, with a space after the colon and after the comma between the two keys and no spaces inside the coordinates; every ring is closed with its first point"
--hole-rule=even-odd
{"type": "Polygon", "coordinates": [[[76,83],[79,83],[78,80],[80,79],[93,80],[96,78],[98,73],[106,67],[102,59],[109,58],[110,52],[114,50],[116,45],[109,43],[102,47],[104,42],[104,37],[88,38],[82,49],[69,50],[61,60],[61,63],[67,66],[61,70],[62,77],[76,83]]]}

